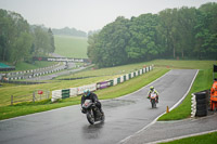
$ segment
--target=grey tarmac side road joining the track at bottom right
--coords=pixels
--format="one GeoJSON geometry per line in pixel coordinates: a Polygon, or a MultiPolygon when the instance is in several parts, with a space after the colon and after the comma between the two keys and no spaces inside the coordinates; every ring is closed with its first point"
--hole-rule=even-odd
{"type": "Polygon", "coordinates": [[[207,117],[157,121],[131,135],[123,144],[155,144],[209,132],[217,132],[217,113],[207,117]]]}

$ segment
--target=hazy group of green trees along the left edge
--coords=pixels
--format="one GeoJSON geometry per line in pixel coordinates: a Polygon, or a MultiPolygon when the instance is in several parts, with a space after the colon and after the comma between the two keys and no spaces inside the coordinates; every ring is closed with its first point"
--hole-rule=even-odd
{"type": "Polygon", "coordinates": [[[52,30],[30,26],[21,14],[0,9],[0,61],[31,62],[33,56],[54,52],[52,30]]]}

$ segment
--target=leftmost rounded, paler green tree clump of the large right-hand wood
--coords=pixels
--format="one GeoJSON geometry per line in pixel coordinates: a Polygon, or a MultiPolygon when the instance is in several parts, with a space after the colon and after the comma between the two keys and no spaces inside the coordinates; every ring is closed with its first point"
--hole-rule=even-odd
{"type": "Polygon", "coordinates": [[[127,52],[125,50],[130,38],[128,19],[117,17],[106,25],[100,34],[89,37],[88,56],[99,67],[110,67],[125,64],[127,52]]]}

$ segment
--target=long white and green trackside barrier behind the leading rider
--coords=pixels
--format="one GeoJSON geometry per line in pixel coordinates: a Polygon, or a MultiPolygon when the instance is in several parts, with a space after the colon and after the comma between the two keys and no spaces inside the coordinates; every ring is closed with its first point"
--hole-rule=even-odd
{"type": "Polygon", "coordinates": [[[98,89],[104,89],[107,87],[112,87],[112,86],[116,86],[118,83],[122,83],[126,80],[129,80],[130,78],[140,76],[142,74],[145,74],[146,71],[150,71],[153,69],[153,66],[149,66],[142,69],[139,69],[137,71],[130,73],[130,74],[126,74],[124,76],[120,76],[118,78],[114,78],[112,80],[106,80],[103,82],[98,82],[98,83],[93,83],[93,84],[88,84],[88,86],[82,86],[82,87],[78,87],[78,88],[69,88],[69,89],[64,89],[64,90],[55,90],[52,91],[52,102],[55,102],[59,99],[65,99],[65,97],[69,97],[69,96],[77,96],[79,94],[84,94],[84,90],[89,89],[90,91],[95,91],[98,89]]]}

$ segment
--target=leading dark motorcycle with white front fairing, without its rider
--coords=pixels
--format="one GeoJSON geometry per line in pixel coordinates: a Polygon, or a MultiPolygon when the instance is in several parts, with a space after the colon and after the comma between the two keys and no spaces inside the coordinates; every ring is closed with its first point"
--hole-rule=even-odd
{"type": "Polygon", "coordinates": [[[86,114],[88,122],[90,125],[94,125],[95,121],[104,122],[104,113],[101,113],[91,100],[85,101],[85,103],[82,104],[82,113],[86,114]]]}

